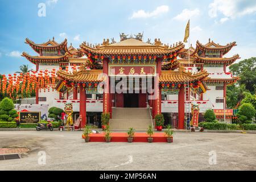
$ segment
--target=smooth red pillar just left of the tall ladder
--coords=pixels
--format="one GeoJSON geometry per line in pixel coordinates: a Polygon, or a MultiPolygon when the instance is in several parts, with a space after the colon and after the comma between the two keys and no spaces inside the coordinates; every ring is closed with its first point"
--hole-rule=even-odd
{"type": "Polygon", "coordinates": [[[180,86],[178,108],[179,108],[178,129],[184,129],[184,119],[185,119],[184,84],[180,86]]]}

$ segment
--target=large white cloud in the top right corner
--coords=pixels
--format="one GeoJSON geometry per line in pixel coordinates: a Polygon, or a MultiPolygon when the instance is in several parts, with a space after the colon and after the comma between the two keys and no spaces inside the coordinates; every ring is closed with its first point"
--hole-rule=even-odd
{"type": "Polygon", "coordinates": [[[256,12],[256,1],[251,0],[214,0],[209,5],[209,16],[217,17],[218,13],[227,18],[236,18],[256,12]]]}

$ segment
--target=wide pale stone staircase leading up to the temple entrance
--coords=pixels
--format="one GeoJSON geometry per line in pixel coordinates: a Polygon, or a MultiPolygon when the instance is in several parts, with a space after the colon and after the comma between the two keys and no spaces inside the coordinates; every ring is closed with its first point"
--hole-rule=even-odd
{"type": "Polygon", "coordinates": [[[109,120],[110,130],[146,131],[151,125],[151,117],[147,108],[112,108],[112,119],[109,120]]]}

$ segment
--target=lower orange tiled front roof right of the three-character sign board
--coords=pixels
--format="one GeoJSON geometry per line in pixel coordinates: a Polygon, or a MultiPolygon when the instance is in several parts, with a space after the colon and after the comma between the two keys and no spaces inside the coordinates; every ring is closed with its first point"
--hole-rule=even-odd
{"type": "Polygon", "coordinates": [[[186,72],[183,67],[180,67],[178,71],[162,71],[162,75],[159,76],[160,82],[191,82],[191,81],[203,81],[207,80],[209,74],[207,71],[201,71],[194,75],[191,72],[186,72]]]}

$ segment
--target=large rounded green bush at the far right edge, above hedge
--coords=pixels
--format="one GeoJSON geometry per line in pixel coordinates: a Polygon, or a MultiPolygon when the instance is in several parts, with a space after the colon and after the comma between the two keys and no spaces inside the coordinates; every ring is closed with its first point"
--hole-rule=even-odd
{"type": "Polygon", "coordinates": [[[239,111],[238,111],[238,119],[241,121],[241,122],[245,122],[246,120],[247,121],[252,121],[253,117],[255,115],[255,109],[254,109],[254,106],[250,103],[245,103],[243,105],[241,105],[239,107],[239,111]],[[242,117],[245,116],[245,117],[242,117]]]}

